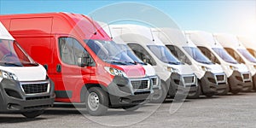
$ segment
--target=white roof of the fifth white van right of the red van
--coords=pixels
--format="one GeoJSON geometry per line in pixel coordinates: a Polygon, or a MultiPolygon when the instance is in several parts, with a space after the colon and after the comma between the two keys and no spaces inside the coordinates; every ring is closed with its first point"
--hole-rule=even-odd
{"type": "Polygon", "coordinates": [[[224,48],[245,49],[235,35],[227,33],[214,33],[213,36],[224,48]]]}

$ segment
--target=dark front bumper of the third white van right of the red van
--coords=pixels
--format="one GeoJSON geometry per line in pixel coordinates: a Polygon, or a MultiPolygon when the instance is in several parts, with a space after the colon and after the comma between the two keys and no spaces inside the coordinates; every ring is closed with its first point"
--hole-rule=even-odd
{"type": "Polygon", "coordinates": [[[228,93],[228,84],[224,73],[206,72],[200,80],[201,90],[204,95],[225,95],[228,93]],[[220,79],[218,79],[218,76],[221,76],[219,77],[220,79]]]}

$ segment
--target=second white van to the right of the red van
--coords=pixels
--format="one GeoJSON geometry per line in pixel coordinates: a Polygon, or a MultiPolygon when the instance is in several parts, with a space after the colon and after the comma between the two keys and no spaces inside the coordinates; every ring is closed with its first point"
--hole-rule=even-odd
{"type": "Polygon", "coordinates": [[[141,60],[154,67],[168,96],[179,99],[196,95],[197,79],[192,69],[178,61],[159,38],[153,38],[150,28],[138,25],[110,25],[110,28],[141,60]]]}

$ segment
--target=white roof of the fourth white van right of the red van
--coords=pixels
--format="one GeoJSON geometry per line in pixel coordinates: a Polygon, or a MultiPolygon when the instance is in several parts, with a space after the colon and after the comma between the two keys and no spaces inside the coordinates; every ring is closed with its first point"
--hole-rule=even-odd
{"type": "Polygon", "coordinates": [[[197,46],[223,48],[221,44],[213,37],[210,32],[203,31],[186,31],[187,37],[197,46]]]}

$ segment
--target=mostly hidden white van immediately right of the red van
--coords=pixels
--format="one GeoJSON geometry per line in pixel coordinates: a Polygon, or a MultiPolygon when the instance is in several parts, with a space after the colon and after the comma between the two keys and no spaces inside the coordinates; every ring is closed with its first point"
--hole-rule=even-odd
{"type": "Polygon", "coordinates": [[[152,97],[152,102],[163,102],[165,100],[165,96],[163,96],[161,93],[160,88],[160,78],[155,73],[154,67],[152,67],[150,64],[143,62],[140,60],[137,55],[134,54],[132,49],[125,44],[125,42],[119,38],[119,36],[116,36],[117,33],[112,32],[109,29],[108,24],[98,21],[99,25],[102,26],[103,30],[108,33],[108,36],[113,39],[113,41],[119,45],[120,50],[125,51],[125,53],[137,64],[140,64],[145,69],[146,75],[151,79],[152,88],[154,90],[154,96],[152,97]],[[116,37],[113,37],[116,36],[116,37]]]}

